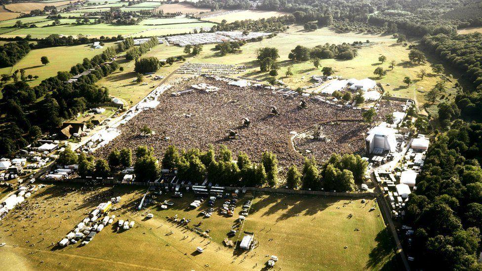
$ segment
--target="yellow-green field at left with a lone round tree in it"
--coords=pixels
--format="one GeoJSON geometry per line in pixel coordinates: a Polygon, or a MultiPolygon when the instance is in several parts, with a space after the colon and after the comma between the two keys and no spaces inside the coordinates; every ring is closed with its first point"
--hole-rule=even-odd
{"type": "MultiPolygon", "coordinates": [[[[112,43],[106,43],[107,48],[112,43]]],[[[30,85],[38,85],[48,77],[57,75],[58,71],[70,71],[70,68],[82,59],[92,58],[100,54],[103,49],[91,50],[88,45],[61,46],[31,50],[13,67],[0,69],[0,74],[11,74],[15,70],[25,69],[26,75],[39,76],[38,79],[27,81],[30,85]],[[42,65],[40,57],[47,56],[50,61],[47,65],[42,65]]]]}

